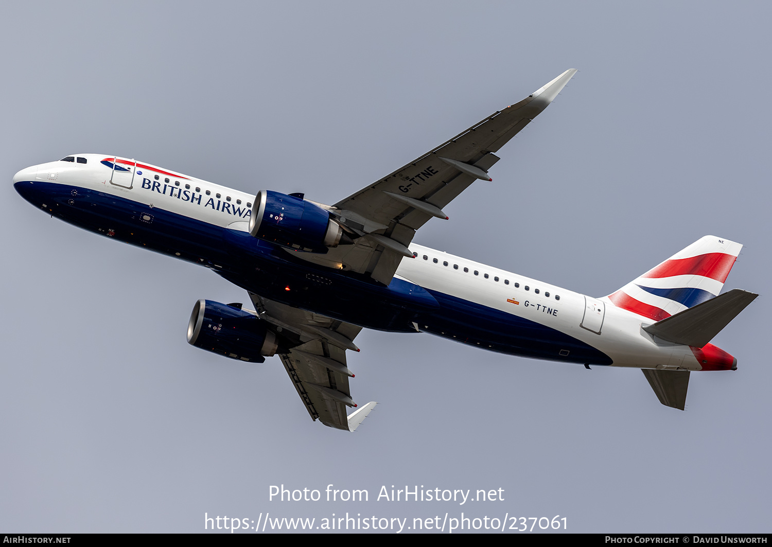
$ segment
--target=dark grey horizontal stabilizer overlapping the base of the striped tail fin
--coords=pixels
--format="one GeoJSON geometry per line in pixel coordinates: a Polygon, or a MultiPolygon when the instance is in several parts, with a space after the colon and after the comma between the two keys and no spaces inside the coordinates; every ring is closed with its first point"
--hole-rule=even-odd
{"type": "Polygon", "coordinates": [[[670,342],[701,348],[757,296],[753,292],[732,289],[643,329],[670,342]]]}

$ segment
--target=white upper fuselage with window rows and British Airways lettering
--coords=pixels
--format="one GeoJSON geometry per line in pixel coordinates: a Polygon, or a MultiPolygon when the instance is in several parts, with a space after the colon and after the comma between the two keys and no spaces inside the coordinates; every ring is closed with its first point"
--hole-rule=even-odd
{"type": "MultiPolygon", "coordinates": [[[[83,187],[195,218],[222,228],[249,231],[253,194],[202,181],[149,164],[116,177],[97,154],[80,154],[87,164],[55,161],[19,171],[15,181],[42,181],[83,187]]],[[[132,160],[133,161],[133,160],[132,160]]],[[[651,319],[513,272],[412,244],[416,258],[404,258],[396,275],[431,291],[475,302],[537,322],[605,353],[614,366],[700,370],[689,346],[645,333],[651,319]]],[[[419,328],[421,326],[418,326],[419,328]]]]}

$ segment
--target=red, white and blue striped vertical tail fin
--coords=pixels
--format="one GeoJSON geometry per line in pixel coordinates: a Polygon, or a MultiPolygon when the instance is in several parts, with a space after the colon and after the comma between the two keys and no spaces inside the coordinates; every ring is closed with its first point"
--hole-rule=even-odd
{"type": "Polygon", "coordinates": [[[742,248],[706,235],[607,298],[619,308],[661,321],[716,297],[742,248]]]}

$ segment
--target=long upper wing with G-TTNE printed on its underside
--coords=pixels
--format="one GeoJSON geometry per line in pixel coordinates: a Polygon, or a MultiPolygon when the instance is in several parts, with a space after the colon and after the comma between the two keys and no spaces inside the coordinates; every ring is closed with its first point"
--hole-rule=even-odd
{"type": "Polygon", "coordinates": [[[490,181],[488,169],[499,160],[493,152],[547,108],[576,72],[567,70],[520,103],[493,113],[334,207],[322,205],[348,229],[354,245],[331,248],[326,255],[296,255],[369,274],[388,285],[402,258],[412,258],[408,245],[415,231],[432,217],[447,219],[442,208],[469,184],[490,181]]]}

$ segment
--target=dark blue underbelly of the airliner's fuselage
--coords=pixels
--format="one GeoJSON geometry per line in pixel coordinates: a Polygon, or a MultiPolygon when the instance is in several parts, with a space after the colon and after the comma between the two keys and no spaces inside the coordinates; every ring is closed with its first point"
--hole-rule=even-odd
{"type": "Polygon", "coordinates": [[[604,353],[540,323],[394,279],[391,285],[296,258],[276,245],[113,194],[43,181],[16,190],[70,224],[212,268],[243,289],[369,329],[427,333],[500,353],[611,364],[604,353]]]}

